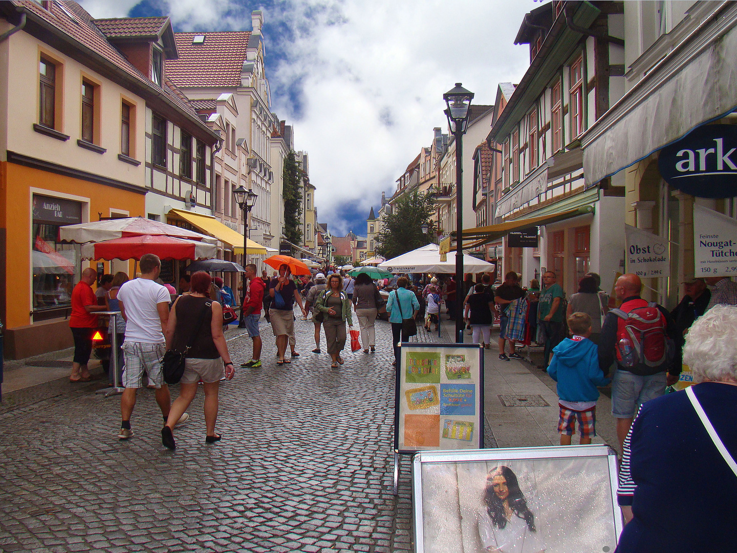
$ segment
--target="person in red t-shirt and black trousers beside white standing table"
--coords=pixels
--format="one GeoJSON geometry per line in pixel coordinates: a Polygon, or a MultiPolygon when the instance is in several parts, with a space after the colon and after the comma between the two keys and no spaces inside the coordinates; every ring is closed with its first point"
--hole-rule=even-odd
{"type": "Polygon", "coordinates": [[[82,271],[80,282],[71,292],[71,316],[69,328],[74,337],[74,361],[71,363],[70,382],[89,382],[92,380],[87,364],[92,353],[92,335],[99,326],[95,311],[104,311],[105,305],[97,305],[97,296],[92,284],[97,280],[93,268],[82,271]]]}

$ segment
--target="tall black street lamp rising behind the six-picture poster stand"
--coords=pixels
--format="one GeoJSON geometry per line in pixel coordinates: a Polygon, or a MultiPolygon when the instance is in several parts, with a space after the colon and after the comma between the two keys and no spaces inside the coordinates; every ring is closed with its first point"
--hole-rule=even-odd
{"type": "Polygon", "coordinates": [[[463,310],[464,294],[461,283],[464,282],[463,271],[463,136],[468,128],[473,93],[467,91],[461,83],[443,94],[447,105],[445,115],[448,118],[450,132],[455,140],[455,343],[463,344],[463,310]]]}

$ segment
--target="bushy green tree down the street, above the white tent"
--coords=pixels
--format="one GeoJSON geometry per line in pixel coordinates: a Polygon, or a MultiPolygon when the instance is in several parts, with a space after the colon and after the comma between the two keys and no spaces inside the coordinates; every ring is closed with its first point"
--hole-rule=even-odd
{"type": "Polygon", "coordinates": [[[392,212],[385,215],[381,230],[377,234],[377,254],[385,259],[391,259],[430,243],[430,237],[435,233],[435,226],[430,218],[435,212],[433,195],[418,191],[411,192],[399,198],[392,204],[392,212]],[[430,227],[427,234],[422,232],[422,225],[430,227]]]}

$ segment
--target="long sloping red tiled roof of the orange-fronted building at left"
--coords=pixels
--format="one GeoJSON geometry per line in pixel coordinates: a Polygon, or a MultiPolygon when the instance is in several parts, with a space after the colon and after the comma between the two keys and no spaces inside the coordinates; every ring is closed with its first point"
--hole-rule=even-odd
{"type": "MultiPolygon", "coordinates": [[[[32,13],[32,15],[35,15],[35,17],[41,18],[43,21],[57,27],[57,29],[60,29],[66,35],[69,35],[72,42],[77,41],[85,48],[91,49],[95,54],[123,69],[135,80],[138,80],[142,86],[158,88],[163,91],[167,100],[175,105],[182,114],[185,114],[189,119],[196,119],[200,124],[204,125],[198,114],[189,105],[189,102],[182,100],[170,86],[164,86],[164,88],[158,87],[131,65],[125,56],[108,42],[108,38],[92,22],[91,16],[77,2],[65,1],[63,4],[61,2],[49,2],[49,10],[44,9],[41,7],[41,4],[33,0],[15,0],[13,4],[24,8],[29,13],[32,13]]],[[[168,18],[164,19],[167,20],[168,18]]],[[[167,69],[169,63],[171,62],[167,61],[167,69]]]]}

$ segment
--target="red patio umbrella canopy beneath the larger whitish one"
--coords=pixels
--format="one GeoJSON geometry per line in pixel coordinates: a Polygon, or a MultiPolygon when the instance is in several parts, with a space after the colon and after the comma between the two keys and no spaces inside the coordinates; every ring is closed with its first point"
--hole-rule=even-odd
{"type": "Polygon", "coordinates": [[[205,260],[217,254],[213,244],[182,240],[164,234],[127,236],[82,246],[85,260],[136,260],[143,254],[156,254],[161,260],[205,260]]]}

